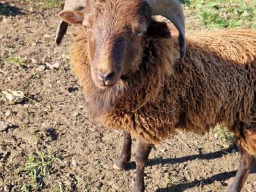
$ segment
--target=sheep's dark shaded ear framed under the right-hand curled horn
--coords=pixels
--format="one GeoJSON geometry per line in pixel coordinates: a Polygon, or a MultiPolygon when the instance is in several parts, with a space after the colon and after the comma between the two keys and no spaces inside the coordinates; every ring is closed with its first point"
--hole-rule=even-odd
{"type": "Polygon", "coordinates": [[[177,38],[179,36],[177,28],[172,23],[156,22],[152,20],[148,26],[148,34],[155,38],[177,38]]]}

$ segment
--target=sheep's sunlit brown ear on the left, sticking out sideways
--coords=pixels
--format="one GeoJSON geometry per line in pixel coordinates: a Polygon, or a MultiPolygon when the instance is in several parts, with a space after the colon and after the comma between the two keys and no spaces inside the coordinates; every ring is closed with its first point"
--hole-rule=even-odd
{"type": "Polygon", "coordinates": [[[58,17],[64,22],[74,25],[81,25],[84,20],[84,15],[74,10],[62,10],[58,17]]]}

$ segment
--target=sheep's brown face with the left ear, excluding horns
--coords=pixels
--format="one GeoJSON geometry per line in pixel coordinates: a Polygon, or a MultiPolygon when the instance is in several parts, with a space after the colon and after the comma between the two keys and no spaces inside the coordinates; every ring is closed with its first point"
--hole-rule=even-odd
{"type": "Polygon", "coordinates": [[[149,21],[145,1],[89,0],[85,10],[64,11],[60,17],[84,28],[92,80],[100,89],[114,86],[138,68],[149,21]]]}

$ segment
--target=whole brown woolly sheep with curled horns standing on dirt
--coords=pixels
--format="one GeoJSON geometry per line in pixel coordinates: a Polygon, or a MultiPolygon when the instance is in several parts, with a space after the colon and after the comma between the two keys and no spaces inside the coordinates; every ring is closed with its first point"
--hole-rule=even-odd
{"type": "Polygon", "coordinates": [[[140,138],[132,191],[144,191],[153,144],[177,130],[204,134],[217,124],[234,133],[241,151],[229,188],[240,191],[256,159],[256,30],[196,31],[185,41],[177,1],[85,2],[84,9],[59,15],[80,26],[71,58],[90,115],[108,129],[124,130],[114,167],[130,161],[130,134],[140,138]],[[174,23],[179,38],[151,19],[157,14],[174,23]]]}

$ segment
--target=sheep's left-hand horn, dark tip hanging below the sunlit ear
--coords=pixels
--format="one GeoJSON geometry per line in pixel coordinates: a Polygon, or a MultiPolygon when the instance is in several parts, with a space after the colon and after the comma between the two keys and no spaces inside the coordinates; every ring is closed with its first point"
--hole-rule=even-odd
{"type": "MultiPolygon", "coordinates": [[[[66,0],[64,5],[64,10],[82,10],[86,7],[86,0],[66,0]]],[[[60,21],[58,25],[55,42],[58,45],[62,42],[63,37],[68,30],[68,23],[63,20],[60,21]]]]}

